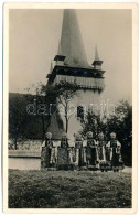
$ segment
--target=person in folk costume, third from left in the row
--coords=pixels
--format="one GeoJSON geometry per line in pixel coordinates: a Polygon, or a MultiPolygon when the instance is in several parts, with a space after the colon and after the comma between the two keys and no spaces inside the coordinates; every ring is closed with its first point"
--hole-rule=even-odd
{"type": "Polygon", "coordinates": [[[75,164],[82,166],[84,163],[83,140],[79,133],[75,135],[75,164]]]}

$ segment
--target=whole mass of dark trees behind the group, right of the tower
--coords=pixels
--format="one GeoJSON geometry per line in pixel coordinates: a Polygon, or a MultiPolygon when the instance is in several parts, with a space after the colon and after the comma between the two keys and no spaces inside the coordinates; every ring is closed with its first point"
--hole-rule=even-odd
{"type": "Polygon", "coordinates": [[[121,142],[122,155],[129,165],[132,161],[132,106],[127,100],[121,100],[116,106],[116,111],[109,118],[100,118],[87,111],[80,121],[83,136],[93,131],[95,139],[99,132],[104,132],[106,140],[110,139],[110,132],[116,132],[117,139],[121,142]]]}

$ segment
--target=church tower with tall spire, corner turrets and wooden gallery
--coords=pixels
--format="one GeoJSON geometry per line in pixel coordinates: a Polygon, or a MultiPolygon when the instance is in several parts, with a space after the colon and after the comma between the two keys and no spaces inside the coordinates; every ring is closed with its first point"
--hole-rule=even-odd
{"type": "MultiPolygon", "coordinates": [[[[68,138],[73,139],[74,133],[80,129],[78,116],[79,108],[83,109],[84,112],[86,111],[85,107],[88,108],[90,104],[98,104],[99,95],[105,88],[103,76],[105,71],[101,69],[103,61],[99,58],[97,46],[95,49],[95,61],[93,62],[93,65],[89,65],[84,49],[76,11],[73,9],[64,10],[62,35],[54,62],[54,67],[46,76],[47,85],[55,85],[63,80],[73,84],[76,83],[78,86],[79,96],[73,100],[77,110],[69,120],[68,138]]],[[[54,121],[52,121],[52,125],[54,121]]],[[[52,132],[52,129],[50,131],[52,132]]]]}

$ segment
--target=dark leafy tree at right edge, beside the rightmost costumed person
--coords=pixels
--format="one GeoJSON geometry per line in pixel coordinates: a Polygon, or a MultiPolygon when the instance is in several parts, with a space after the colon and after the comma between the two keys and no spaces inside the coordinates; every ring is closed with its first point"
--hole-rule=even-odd
{"type": "MultiPolygon", "coordinates": [[[[132,164],[132,106],[127,100],[119,101],[116,115],[107,123],[109,132],[116,132],[121,142],[125,162],[132,164]]],[[[108,132],[108,138],[109,138],[108,132]]]]}

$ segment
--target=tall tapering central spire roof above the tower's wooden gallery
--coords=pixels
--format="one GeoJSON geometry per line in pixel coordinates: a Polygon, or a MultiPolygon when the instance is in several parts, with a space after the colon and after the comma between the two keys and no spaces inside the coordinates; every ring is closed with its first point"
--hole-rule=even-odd
{"type": "Polygon", "coordinates": [[[61,47],[62,53],[66,56],[64,61],[66,65],[89,68],[76,11],[74,9],[64,10],[61,47]]]}

